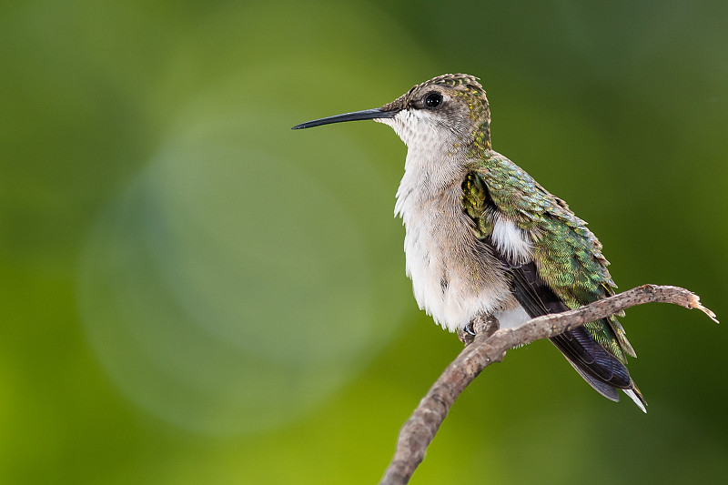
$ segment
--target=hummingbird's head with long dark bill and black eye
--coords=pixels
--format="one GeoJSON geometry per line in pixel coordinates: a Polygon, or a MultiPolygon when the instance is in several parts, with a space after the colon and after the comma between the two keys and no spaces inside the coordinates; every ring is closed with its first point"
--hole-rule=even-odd
{"type": "Polygon", "coordinates": [[[477,151],[490,149],[490,107],[475,76],[433,77],[379,108],[308,121],[293,129],[359,119],[391,126],[408,147],[442,139],[477,151]]]}

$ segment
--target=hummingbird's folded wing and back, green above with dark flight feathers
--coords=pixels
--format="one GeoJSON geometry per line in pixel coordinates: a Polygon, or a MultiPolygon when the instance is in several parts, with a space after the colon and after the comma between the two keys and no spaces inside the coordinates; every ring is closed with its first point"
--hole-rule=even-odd
{"type": "MultiPolygon", "coordinates": [[[[495,152],[463,182],[463,205],[479,237],[511,273],[514,296],[533,317],[578,308],[613,294],[615,285],[602,245],[569,207],[520,167],[495,152]],[[508,221],[530,239],[527,256],[505,250],[492,227],[508,221]],[[488,230],[490,229],[490,231],[488,230]]],[[[635,389],[624,363],[632,346],[616,318],[590,322],[551,338],[566,359],[602,396],[635,389]]],[[[639,395],[639,390],[635,389],[639,395]]]]}

